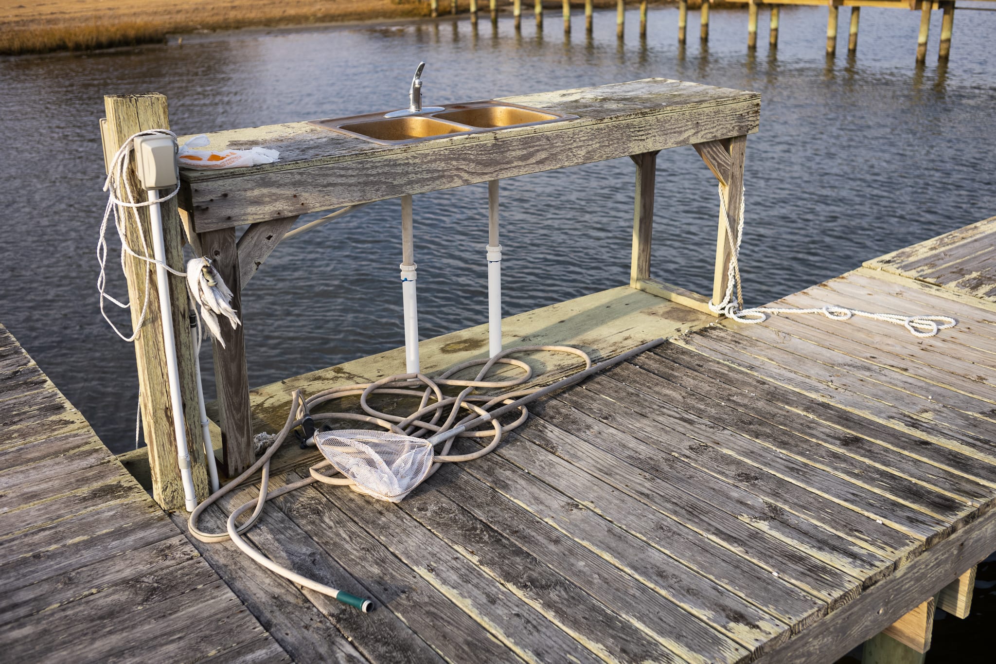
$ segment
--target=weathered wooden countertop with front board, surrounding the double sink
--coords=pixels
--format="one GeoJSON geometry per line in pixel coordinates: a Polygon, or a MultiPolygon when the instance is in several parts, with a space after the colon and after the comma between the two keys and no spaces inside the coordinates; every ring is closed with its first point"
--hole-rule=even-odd
{"type": "MultiPolygon", "coordinates": [[[[184,169],[199,233],[757,131],[760,95],[667,79],[498,100],[575,119],[380,145],[309,122],[208,134],[211,149],[265,145],[280,160],[184,169]]],[[[181,138],[183,140],[183,138],[181,138]]]]}

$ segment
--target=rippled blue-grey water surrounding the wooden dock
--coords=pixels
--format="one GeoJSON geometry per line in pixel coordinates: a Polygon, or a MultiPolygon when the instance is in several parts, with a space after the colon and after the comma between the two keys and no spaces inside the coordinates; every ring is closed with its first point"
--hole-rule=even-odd
{"type": "MultiPolygon", "coordinates": [[[[645,42],[634,12],[622,42],[605,12],[591,39],[583,20],[565,39],[551,16],[542,36],[503,18],[496,33],[442,21],[0,61],[0,322],[112,449],[133,446],[134,355],[100,318],[95,289],[102,96],[164,93],[173,129],[194,133],[401,107],[419,59],[434,104],[646,77],[762,93],[743,272],[749,304],[763,304],[996,214],[996,13],[958,12],[947,66],[934,14],[922,68],[918,12],[866,9],[857,58],[845,29],[845,53],[827,59],[826,12],[807,7],[783,8],[777,55],[766,19],[748,55],[745,10],[714,11],[708,49],[694,39],[679,50],[677,11],[664,8],[650,12],[645,42]]],[[[707,293],[715,181],[691,148],[658,163],[653,273],[707,293]]],[[[626,283],[632,176],[618,159],[503,182],[506,315],[626,283]]],[[[484,185],[416,197],[423,337],[486,320],[486,214],[484,185]]],[[[397,201],[375,203],[274,252],[244,297],[252,384],[402,343],[399,215],[397,201]]],[[[119,275],[112,283],[124,293],[119,275]]]]}

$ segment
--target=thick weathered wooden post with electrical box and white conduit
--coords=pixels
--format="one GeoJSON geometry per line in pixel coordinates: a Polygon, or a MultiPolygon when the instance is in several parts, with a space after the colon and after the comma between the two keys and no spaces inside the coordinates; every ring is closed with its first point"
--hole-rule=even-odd
{"type": "MultiPolygon", "coordinates": [[[[169,116],[166,98],[162,95],[114,95],[104,98],[107,120],[103,121],[102,134],[105,154],[113,155],[133,133],[145,129],[168,129],[169,116]]],[[[123,183],[124,184],[124,183],[123,183]]],[[[144,199],[132,168],[128,174],[128,186],[144,199]]],[[[124,187],[117,192],[124,197],[124,187]]],[[[166,263],[175,270],[184,269],[183,226],[176,210],[176,199],[171,198],[160,204],[162,211],[162,236],[166,263]]],[[[136,208],[141,232],[148,246],[140,247],[137,231],[131,224],[128,231],[131,249],[151,256],[152,248],[147,208],[136,208]]],[[[130,215],[131,211],[128,210],[130,215]]],[[[112,262],[113,263],[113,262],[112,262]]],[[[138,337],[134,340],[134,355],[138,367],[138,388],[140,391],[142,429],[148,445],[148,464],[152,476],[152,498],[164,510],[184,508],[183,485],[180,481],[179,464],[176,454],[176,435],[173,430],[173,412],[169,405],[166,373],[165,346],[162,339],[162,322],[159,318],[159,294],[156,286],[155,267],[139,259],[127,257],[124,260],[124,274],[127,278],[128,301],[131,306],[131,325],[138,337]],[[145,299],[145,277],[148,277],[148,307],[140,330],[135,329],[141,313],[141,303],[145,299]]],[[[173,340],[176,346],[176,365],[180,378],[180,399],[183,403],[183,417],[186,421],[187,447],[194,490],[198,502],[207,497],[208,480],[204,458],[204,441],[201,435],[200,414],[197,409],[197,383],[194,374],[193,341],[190,338],[189,304],[185,281],[179,277],[169,277],[169,301],[173,323],[173,340]]]]}

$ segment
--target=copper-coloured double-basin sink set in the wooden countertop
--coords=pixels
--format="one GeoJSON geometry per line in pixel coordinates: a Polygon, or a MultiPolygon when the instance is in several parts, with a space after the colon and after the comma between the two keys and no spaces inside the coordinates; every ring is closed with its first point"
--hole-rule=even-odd
{"type": "Polygon", "coordinates": [[[375,112],[349,117],[315,119],[310,123],[381,145],[401,145],[442,136],[545,124],[577,117],[557,111],[491,101],[450,104],[442,109],[442,111],[400,117],[384,117],[384,113],[375,112]]]}

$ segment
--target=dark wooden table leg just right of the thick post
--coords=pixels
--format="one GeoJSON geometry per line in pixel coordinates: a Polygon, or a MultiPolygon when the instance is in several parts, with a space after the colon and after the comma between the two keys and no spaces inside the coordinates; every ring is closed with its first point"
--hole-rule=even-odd
{"type": "MultiPolygon", "coordinates": [[[[225,285],[232,292],[232,309],[245,323],[242,311],[242,284],[235,229],[225,228],[198,234],[204,255],[214,263],[225,285]]],[[[249,409],[249,377],[246,372],[246,349],[243,327],[232,328],[221,322],[222,347],[214,339],[214,378],[221,414],[221,448],[225,474],[235,477],[256,460],[252,446],[252,420],[249,409]]]]}

